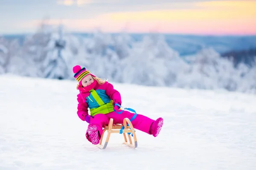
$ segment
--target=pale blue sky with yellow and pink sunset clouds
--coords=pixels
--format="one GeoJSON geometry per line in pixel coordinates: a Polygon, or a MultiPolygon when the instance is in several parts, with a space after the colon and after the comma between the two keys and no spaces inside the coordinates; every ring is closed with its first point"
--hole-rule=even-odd
{"type": "Polygon", "coordinates": [[[68,31],[255,35],[256,0],[0,0],[0,34],[68,31]]]}

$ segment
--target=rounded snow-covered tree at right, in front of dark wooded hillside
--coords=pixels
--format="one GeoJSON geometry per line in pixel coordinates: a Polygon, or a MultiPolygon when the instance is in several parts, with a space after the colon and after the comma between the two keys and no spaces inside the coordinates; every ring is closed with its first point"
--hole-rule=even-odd
{"type": "Polygon", "coordinates": [[[192,88],[225,88],[236,91],[241,79],[233,62],[221,57],[212,48],[204,48],[195,55],[190,74],[192,88]]]}

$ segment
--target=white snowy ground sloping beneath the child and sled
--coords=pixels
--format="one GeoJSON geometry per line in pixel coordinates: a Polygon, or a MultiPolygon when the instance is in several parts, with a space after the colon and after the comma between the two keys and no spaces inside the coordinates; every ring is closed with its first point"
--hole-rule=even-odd
{"type": "Polygon", "coordinates": [[[113,83],[124,107],[163,117],[138,148],[87,142],[76,82],[0,76],[0,170],[255,170],[256,96],[113,83]]]}

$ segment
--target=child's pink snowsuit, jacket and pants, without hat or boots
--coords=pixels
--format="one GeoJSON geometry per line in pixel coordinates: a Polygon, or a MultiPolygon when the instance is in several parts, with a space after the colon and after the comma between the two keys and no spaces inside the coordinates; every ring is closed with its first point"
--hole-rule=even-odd
{"type": "MultiPolygon", "coordinates": [[[[98,83],[96,83],[93,89],[97,92],[97,94],[105,104],[110,102],[112,104],[112,100],[113,102],[119,102],[120,104],[122,104],[120,93],[113,88],[113,85],[111,83],[105,82],[103,85],[99,85],[98,83]]],[[[90,91],[86,88],[79,87],[80,93],[77,95],[77,100],[79,102],[77,107],[77,114],[79,118],[83,121],[85,121],[85,116],[88,115],[88,108],[90,108],[91,112],[93,109],[99,108],[99,104],[96,102],[96,99],[94,99],[90,91]]],[[[90,124],[88,125],[88,127],[95,125],[97,127],[97,130],[99,130],[100,136],[102,136],[103,125],[108,125],[110,118],[113,118],[113,123],[123,123],[124,118],[131,119],[134,116],[134,113],[131,113],[129,111],[123,111],[120,114],[116,113],[115,111],[113,111],[113,105],[110,107],[109,110],[110,112],[104,114],[100,113],[99,111],[95,115],[93,115],[94,118],[90,119],[90,124]]],[[[137,114],[136,118],[132,121],[132,124],[135,129],[151,134],[149,133],[149,130],[153,122],[153,119],[137,114]]],[[[90,141],[90,138],[87,137],[87,139],[90,141]]]]}

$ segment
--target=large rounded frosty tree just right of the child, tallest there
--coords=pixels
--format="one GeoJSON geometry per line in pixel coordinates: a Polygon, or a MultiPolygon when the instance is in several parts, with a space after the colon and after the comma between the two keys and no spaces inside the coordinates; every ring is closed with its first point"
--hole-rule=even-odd
{"type": "Polygon", "coordinates": [[[122,82],[170,85],[176,71],[172,72],[169,66],[176,59],[180,59],[177,52],[168,47],[163,37],[145,36],[141,42],[133,43],[130,56],[122,60],[122,82]]]}

